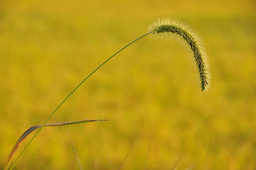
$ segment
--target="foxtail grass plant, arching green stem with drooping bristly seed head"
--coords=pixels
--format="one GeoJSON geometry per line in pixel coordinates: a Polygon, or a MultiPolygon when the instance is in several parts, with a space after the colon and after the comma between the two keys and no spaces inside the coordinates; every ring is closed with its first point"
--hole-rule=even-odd
{"type": "MultiPolygon", "coordinates": [[[[203,48],[203,43],[200,40],[200,38],[198,38],[197,34],[194,33],[192,31],[192,29],[184,22],[180,22],[171,18],[167,18],[167,19],[162,19],[162,20],[157,20],[155,22],[153,22],[151,25],[149,25],[148,27],[148,33],[146,33],[145,35],[139,37],[138,39],[134,40],[132,43],[136,42],[137,40],[139,40],[142,37],[145,37],[147,35],[151,35],[152,37],[158,37],[158,38],[170,38],[170,37],[177,37],[178,39],[180,39],[185,46],[188,47],[189,51],[192,53],[192,56],[194,58],[195,61],[195,65],[197,68],[197,72],[198,72],[198,77],[200,80],[200,88],[201,90],[205,93],[209,87],[210,87],[210,69],[209,69],[209,65],[208,65],[208,60],[207,60],[207,55],[205,53],[205,50],[203,48]]],[[[127,46],[125,46],[124,48],[127,48],[129,45],[131,45],[132,43],[129,43],[127,46]]],[[[119,53],[120,51],[122,51],[124,48],[122,48],[121,50],[119,50],[117,53],[119,53]]],[[[96,72],[97,69],[99,69],[103,64],[107,63],[108,60],[110,60],[112,57],[114,57],[117,53],[115,53],[114,55],[112,55],[110,58],[108,58],[104,63],[102,63],[98,68],[96,68],[91,74],[89,74],[85,80],[87,80],[92,74],[94,74],[94,72],[96,72]]],[[[59,109],[59,107],[69,98],[69,96],[71,96],[75,90],[82,85],[85,80],[83,80],[65,99],[64,101],[62,101],[60,103],[60,105],[54,110],[54,112],[48,117],[48,119],[43,123],[43,125],[40,126],[36,126],[36,127],[40,127],[39,130],[37,131],[37,133],[40,132],[40,130],[46,126],[46,122],[48,122],[48,120],[53,116],[53,114],[59,109]]],[[[94,120],[95,121],[95,120],[94,120]]],[[[26,131],[27,132],[27,131],[26,131]]],[[[25,132],[25,133],[26,133],[25,132]]],[[[32,139],[29,141],[29,143],[27,144],[27,146],[22,150],[21,154],[18,156],[18,158],[16,159],[16,161],[14,162],[14,164],[12,165],[12,167],[10,168],[10,170],[13,169],[13,167],[16,165],[17,161],[20,159],[21,155],[24,153],[25,149],[27,149],[28,145],[32,142],[32,140],[36,137],[37,133],[35,133],[35,135],[32,137],[32,139]]],[[[28,135],[28,134],[27,134],[28,135]]],[[[21,136],[22,137],[22,136],[21,136]]],[[[23,136],[24,137],[24,136],[23,136]]],[[[23,138],[20,138],[14,147],[14,149],[12,149],[11,153],[9,154],[9,157],[6,161],[5,164],[5,170],[8,170],[9,164],[10,164],[10,160],[11,160],[11,156],[14,154],[14,152],[16,151],[18,145],[20,144],[20,142],[23,140],[23,138]]]]}

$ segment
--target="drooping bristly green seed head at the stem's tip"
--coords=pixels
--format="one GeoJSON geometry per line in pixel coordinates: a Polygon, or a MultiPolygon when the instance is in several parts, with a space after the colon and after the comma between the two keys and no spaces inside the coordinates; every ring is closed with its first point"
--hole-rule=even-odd
{"type": "Polygon", "coordinates": [[[185,23],[171,18],[157,20],[148,27],[149,35],[159,38],[178,36],[178,39],[188,46],[195,59],[195,65],[199,74],[200,86],[203,92],[210,87],[210,69],[207,54],[203,43],[197,34],[185,23]]]}

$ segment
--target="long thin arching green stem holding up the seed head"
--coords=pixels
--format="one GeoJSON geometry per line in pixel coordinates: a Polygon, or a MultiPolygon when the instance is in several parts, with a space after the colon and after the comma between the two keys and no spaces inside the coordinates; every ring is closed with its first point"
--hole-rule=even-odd
{"type": "MultiPolygon", "coordinates": [[[[154,31],[152,31],[152,32],[154,32],[154,31]]],[[[146,35],[148,35],[148,34],[150,34],[150,33],[152,33],[152,32],[148,32],[148,33],[146,33],[144,36],[146,36],[146,35]]],[[[144,37],[144,36],[139,37],[138,39],[134,40],[132,43],[134,43],[135,41],[139,40],[140,38],[142,38],[142,37],[144,37]]],[[[127,47],[128,47],[129,45],[131,45],[132,43],[129,43],[129,44],[128,44],[127,46],[125,46],[124,48],[127,48],[127,47]]],[[[119,50],[117,53],[119,53],[120,51],[122,51],[124,48],[122,48],[121,50],[119,50]]],[[[112,57],[114,57],[117,53],[115,53],[115,54],[112,55],[110,58],[108,58],[108,59],[107,59],[104,63],[102,63],[97,69],[99,69],[103,64],[107,63],[107,61],[110,60],[112,57]]],[[[90,75],[88,75],[88,76],[85,78],[85,80],[87,80],[94,72],[96,72],[97,69],[95,69],[90,75]]],[[[74,91],[75,91],[80,85],[82,85],[82,84],[85,82],[85,80],[83,80],[83,81],[69,94],[69,96],[71,96],[71,95],[74,93],[74,91]]],[[[46,122],[48,122],[48,120],[53,116],[53,114],[59,109],[59,107],[69,98],[69,96],[67,96],[67,97],[64,99],[64,101],[62,101],[62,103],[55,109],[55,111],[48,117],[48,119],[43,123],[43,126],[46,124],[46,122]]],[[[37,133],[43,128],[43,126],[38,129],[37,133]]],[[[12,165],[12,167],[11,167],[10,170],[12,170],[13,167],[16,165],[17,161],[20,159],[21,155],[22,155],[22,154],[24,153],[24,151],[27,149],[28,145],[29,145],[29,144],[32,142],[32,140],[37,136],[37,133],[33,136],[33,138],[29,141],[29,143],[27,143],[27,146],[22,150],[21,154],[20,154],[19,157],[16,159],[16,161],[14,162],[14,164],[12,165]]]]}

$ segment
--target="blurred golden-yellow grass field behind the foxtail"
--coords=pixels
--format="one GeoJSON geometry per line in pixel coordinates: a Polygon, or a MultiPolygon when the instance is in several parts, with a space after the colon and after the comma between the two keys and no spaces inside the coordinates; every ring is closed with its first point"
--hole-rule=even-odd
{"type": "Polygon", "coordinates": [[[27,128],[42,124],[148,24],[171,16],[203,38],[212,65],[205,95],[179,43],[145,37],[98,70],[50,120],[116,121],[44,128],[16,169],[78,169],[67,130],[85,169],[95,162],[111,169],[106,155],[117,167],[140,136],[123,169],[142,169],[152,129],[152,169],[171,169],[180,154],[179,169],[195,162],[197,169],[255,169],[255,7],[250,0],[1,1],[0,168],[27,128]]]}

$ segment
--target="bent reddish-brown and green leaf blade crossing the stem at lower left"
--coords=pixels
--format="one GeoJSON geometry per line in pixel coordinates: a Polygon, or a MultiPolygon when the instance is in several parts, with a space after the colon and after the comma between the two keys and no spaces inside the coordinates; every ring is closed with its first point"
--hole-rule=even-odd
{"type": "MultiPolygon", "coordinates": [[[[104,120],[104,119],[91,119],[91,120],[80,120],[80,121],[71,121],[71,122],[56,122],[56,123],[48,123],[45,124],[44,126],[64,126],[64,125],[72,125],[72,124],[80,124],[80,123],[89,123],[89,122],[98,122],[98,121],[111,121],[111,120],[104,120]]],[[[11,161],[11,157],[12,155],[16,152],[16,150],[18,149],[20,143],[30,134],[32,133],[34,130],[36,130],[37,128],[42,127],[43,125],[37,125],[37,126],[33,126],[29,129],[27,129],[22,135],[21,138],[19,138],[17,140],[17,142],[15,143],[14,147],[11,149],[11,152],[6,160],[5,163],[5,169],[4,170],[8,170],[8,167],[10,165],[10,161],[11,161]]]]}

